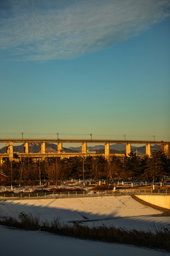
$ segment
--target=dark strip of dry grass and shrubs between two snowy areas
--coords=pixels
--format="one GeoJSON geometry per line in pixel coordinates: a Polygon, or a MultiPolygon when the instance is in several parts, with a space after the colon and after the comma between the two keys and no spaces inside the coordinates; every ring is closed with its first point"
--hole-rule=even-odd
{"type": "Polygon", "coordinates": [[[18,218],[20,221],[15,218],[6,217],[0,224],[26,230],[42,230],[57,235],[72,236],[74,238],[157,248],[170,252],[170,227],[159,230],[155,228],[153,233],[150,230],[126,230],[124,228],[107,228],[105,226],[89,228],[77,223],[74,223],[73,226],[61,225],[59,220],[54,220],[51,224],[46,222],[43,225],[39,225],[38,218],[33,218],[31,213],[26,214],[24,212],[21,212],[18,218]]]}

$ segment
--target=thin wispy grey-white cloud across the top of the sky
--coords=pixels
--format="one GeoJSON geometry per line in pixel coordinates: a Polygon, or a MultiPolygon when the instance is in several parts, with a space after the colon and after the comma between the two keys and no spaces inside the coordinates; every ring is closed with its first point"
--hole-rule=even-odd
{"type": "Polygon", "coordinates": [[[169,16],[169,8],[169,0],[2,0],[1,53],[73,58],[137,35],[169,16]]]}

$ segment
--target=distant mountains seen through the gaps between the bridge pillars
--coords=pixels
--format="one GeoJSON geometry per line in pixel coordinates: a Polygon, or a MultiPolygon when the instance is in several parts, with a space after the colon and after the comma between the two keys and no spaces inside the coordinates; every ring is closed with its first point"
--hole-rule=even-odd
{"type": "MultiPolygon", "coordinates": [[[[46,152],[53,152],[57,153],[57,144],[52,144],[52,143],[46,143],[46,152]]],[[[151,145],[151,152],[154,150],[160,149],[160,145],[151,145]]],[[[98,154],[104,154],[105,151],[105,146],[104,145],[97,145],[97,146],[87,146],[88,152],[94,152],[98,154]]],[[[125,154],[126,150],[126,144],[111,144],[110,145],[110,151],[113,154],[125,154]]],[[[137,154],[145,154],[146,152],[146,147],[145,146],[131,146],[131,150],[134,152],[137,152],[137,154]]],[[[0,154],[5,154],[7,151],[6,146],[4,146],[2,149],[0,149],[0,154]]],[[[41,151],[41,144],[40,143],[29,143],[29,152],[30,153],[40,153],[41,151]]],[[[64,148],[63,151],[66,153],[79,153],[81,152],[81,146],[74,147],[71,146],[69,148],[64,148]]],[[[18,153],[23,153],[24,152],[24,144],[20,146],[13,146],[13,152],[18,152],[18,153]]]]}

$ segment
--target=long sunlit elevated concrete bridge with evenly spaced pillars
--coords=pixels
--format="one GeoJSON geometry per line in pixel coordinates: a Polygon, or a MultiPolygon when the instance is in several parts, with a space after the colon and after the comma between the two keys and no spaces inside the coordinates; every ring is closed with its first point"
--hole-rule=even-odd
{"type": "MultiPolygon", "coordinates": [[[[151,141],[151,140],[120,140],[120,139],[0,139],[0,143],[6,143],[7,151],[6,154],[0,154],[1,163],[4,159],[9,159],[13,161],[14,154],[18,154],[18,158],[22,157],[32,157],[35,159],[45,159],[46,157],[61,157],[69,158],[73,156],[89,156],[87,151],[87,144],[105,144],[105,153],[104,156],[106,159],[109,159],[112,155],[110,153],[110,144],[126,144],[126,155],[131,152],[131,144],[145,144],[146,145],[146,154],[151,156],[150,146],[152,144],[160,144],[160,149],[162,149],[167,156],[169,156],[169,144],[170,142],[166,141],[151,141]],[[14,153],[13,154],[13,143],[23,143],[24,144],[24,153],[14,153]],[[33,154],[29,152],[29,143],[40,143],[41,150],[38,154],[33,154]],[[57,152],[56,153],[47,153],[45,151],[45,143],[57,143],[57,152]],[[64,143],[81,143],[81,153],[66,153],[62,149],[62,144],[64,143]]],[[[97,156],[98,154],[93,154],[97,156]]]]}

